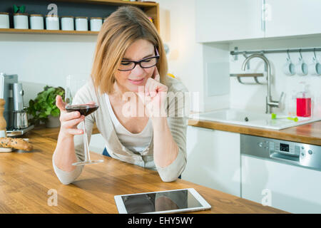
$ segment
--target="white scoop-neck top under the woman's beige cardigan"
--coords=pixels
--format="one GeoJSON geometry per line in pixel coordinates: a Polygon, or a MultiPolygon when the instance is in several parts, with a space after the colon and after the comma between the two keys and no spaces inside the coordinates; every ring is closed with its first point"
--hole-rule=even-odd
{"type": "Polygon", "coordinates": [[[131,133],[119,122],[118,118],[113,112],[113,108],[111,107],[109,96],[107,94],[105,95],[108,111],[111,115],[111,121],[113,122],[113,127],[115,128],[119,141],[122,145],[127,147],[128,150],[138,153],[143,152],[143,150],[145,150],[151,142],[153,135],[153,125],[151,123],[151,119],[148,120],[146,127],[140,133],[131,133]]]}

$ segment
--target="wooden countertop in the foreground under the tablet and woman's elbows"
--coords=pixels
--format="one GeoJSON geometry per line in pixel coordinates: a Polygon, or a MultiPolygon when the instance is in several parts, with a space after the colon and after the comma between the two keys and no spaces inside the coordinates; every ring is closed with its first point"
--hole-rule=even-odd
{"type": "Polygon", "coordinates": [[[212,205],[210,210],[193,213],[285,213],[185,180],[163,182],[156,171],[94,152],[93,159],[105,162],[87,165],[73,184],[62,185],[52,167],[53,132],[26,133],[24,137],[34,145],[31,152],[0,152],[0,213],[118,213],[114,195],[188,187],[212,205]],[[49,190],[56,190],[57,206],[48,205],[49,190]]]}

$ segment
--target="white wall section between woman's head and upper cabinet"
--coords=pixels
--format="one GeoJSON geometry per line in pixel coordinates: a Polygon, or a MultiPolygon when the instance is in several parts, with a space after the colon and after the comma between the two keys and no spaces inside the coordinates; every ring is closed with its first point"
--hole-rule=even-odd
{"type": "Polygon", "coordinates": [[[199,93],[203,108],[203,47],[195,42],[195,0],[159,0],[160,33],[168,44],[168,72],[191,93],[199,93]]]}

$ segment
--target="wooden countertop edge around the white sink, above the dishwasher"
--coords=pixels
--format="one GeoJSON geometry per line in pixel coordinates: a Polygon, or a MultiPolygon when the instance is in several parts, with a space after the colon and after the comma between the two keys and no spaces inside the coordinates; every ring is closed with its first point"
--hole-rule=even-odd
{"type": "Polygon", "coordinates": [[[312,145],[321,145],[321,121],[307,123],[297,127],[285,128],[283,130],[270,130],[265,128],[254,128],[245,125],[233,125],[208,120],[188,120],[188,125],[199,128],[210,128],[213,130],[224,130],[245,135],[256,135],[266,138],[289,140],[312,145]]]}

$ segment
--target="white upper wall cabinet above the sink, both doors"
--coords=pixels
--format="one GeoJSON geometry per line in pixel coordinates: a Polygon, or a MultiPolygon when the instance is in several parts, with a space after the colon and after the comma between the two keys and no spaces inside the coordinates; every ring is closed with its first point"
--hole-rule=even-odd
{"type": "Polygon", "coordinates": [[[320,12],[320,0],[196,1],[196,41],[318,34],[320,12]]]}

